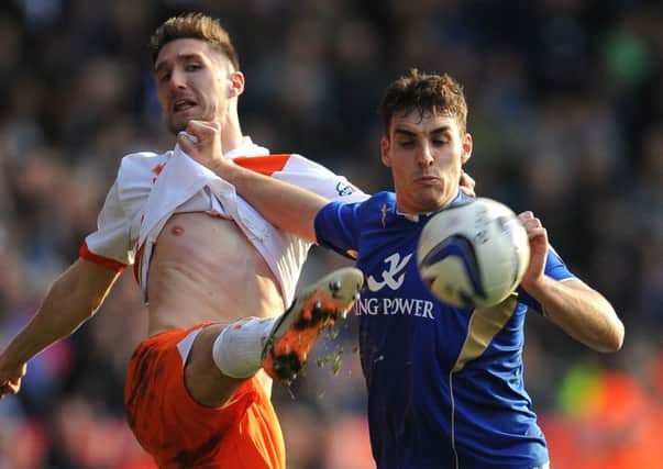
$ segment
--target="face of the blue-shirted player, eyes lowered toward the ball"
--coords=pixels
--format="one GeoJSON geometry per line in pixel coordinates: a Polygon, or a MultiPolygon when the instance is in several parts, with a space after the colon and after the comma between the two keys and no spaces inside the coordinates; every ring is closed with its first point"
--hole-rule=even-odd
{"type": "Polygon", "coordinates": [[[391,168],[398,210],[433,212],[457,193],[462,165],[472,154],[472,136],[456,121],[418,110],[395,113],[380,142],[383,163],[391,168]]]}

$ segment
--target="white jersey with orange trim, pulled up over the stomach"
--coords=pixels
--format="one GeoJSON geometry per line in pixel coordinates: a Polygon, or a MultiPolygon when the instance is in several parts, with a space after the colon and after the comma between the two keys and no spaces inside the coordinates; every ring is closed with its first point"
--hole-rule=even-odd
{"type": "MultiPolygon", "coordinates": [[[[269,155],[250,137],[225,157],[327,199],[353,202],[367,198],[323,166],[301,155],[269,155]]],[[[311,244],[274,227],[236,193],[233,185],[177,145],[161,155],[141,152],[122,158],[97,220],[97,231],[86,237],[80,256],[118,271],[135,261],[134,273],[147,301],[152,248],[168,219],[179,212],[208,212],[233,220],[272,269],[284,302],[292,301],[311,244]]]]}

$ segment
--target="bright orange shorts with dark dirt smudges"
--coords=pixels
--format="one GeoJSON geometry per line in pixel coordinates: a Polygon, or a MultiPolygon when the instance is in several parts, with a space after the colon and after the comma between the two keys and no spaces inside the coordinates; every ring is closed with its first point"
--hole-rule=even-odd
{"type": "Polygon", "coordinates": [[[135,349],[124,389],[131,429],[159,468],[285,468],[280,426],[257,378],[216,409],[186,390],[186,345],[201,327],[157,334],[135,349]]]}

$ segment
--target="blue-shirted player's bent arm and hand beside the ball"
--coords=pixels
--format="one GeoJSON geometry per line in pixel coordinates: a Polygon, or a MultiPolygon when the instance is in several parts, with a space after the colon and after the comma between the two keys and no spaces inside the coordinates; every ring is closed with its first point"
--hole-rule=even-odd
{"type": "Polygon", "coordinates": [[[554,280],[544,273],[548,232],[532,212],[519,215],[530,239],[530,264],[521,284],[543,312],[566,334],[597,351],[617,351],[623,343],[623,324],[612,305],[579,279],[554,280]]]}

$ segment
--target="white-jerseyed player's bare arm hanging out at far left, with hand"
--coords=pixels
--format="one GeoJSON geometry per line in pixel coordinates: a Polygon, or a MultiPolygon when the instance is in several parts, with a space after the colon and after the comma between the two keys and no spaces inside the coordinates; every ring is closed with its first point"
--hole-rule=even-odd
{"type": "Polygon", "coordinates": [[[114,270],[78,259],[53,283],[30,323],[0,354],[0,399],[19,392],[31,358],[95,314],[118,277],[114,270]]]}

